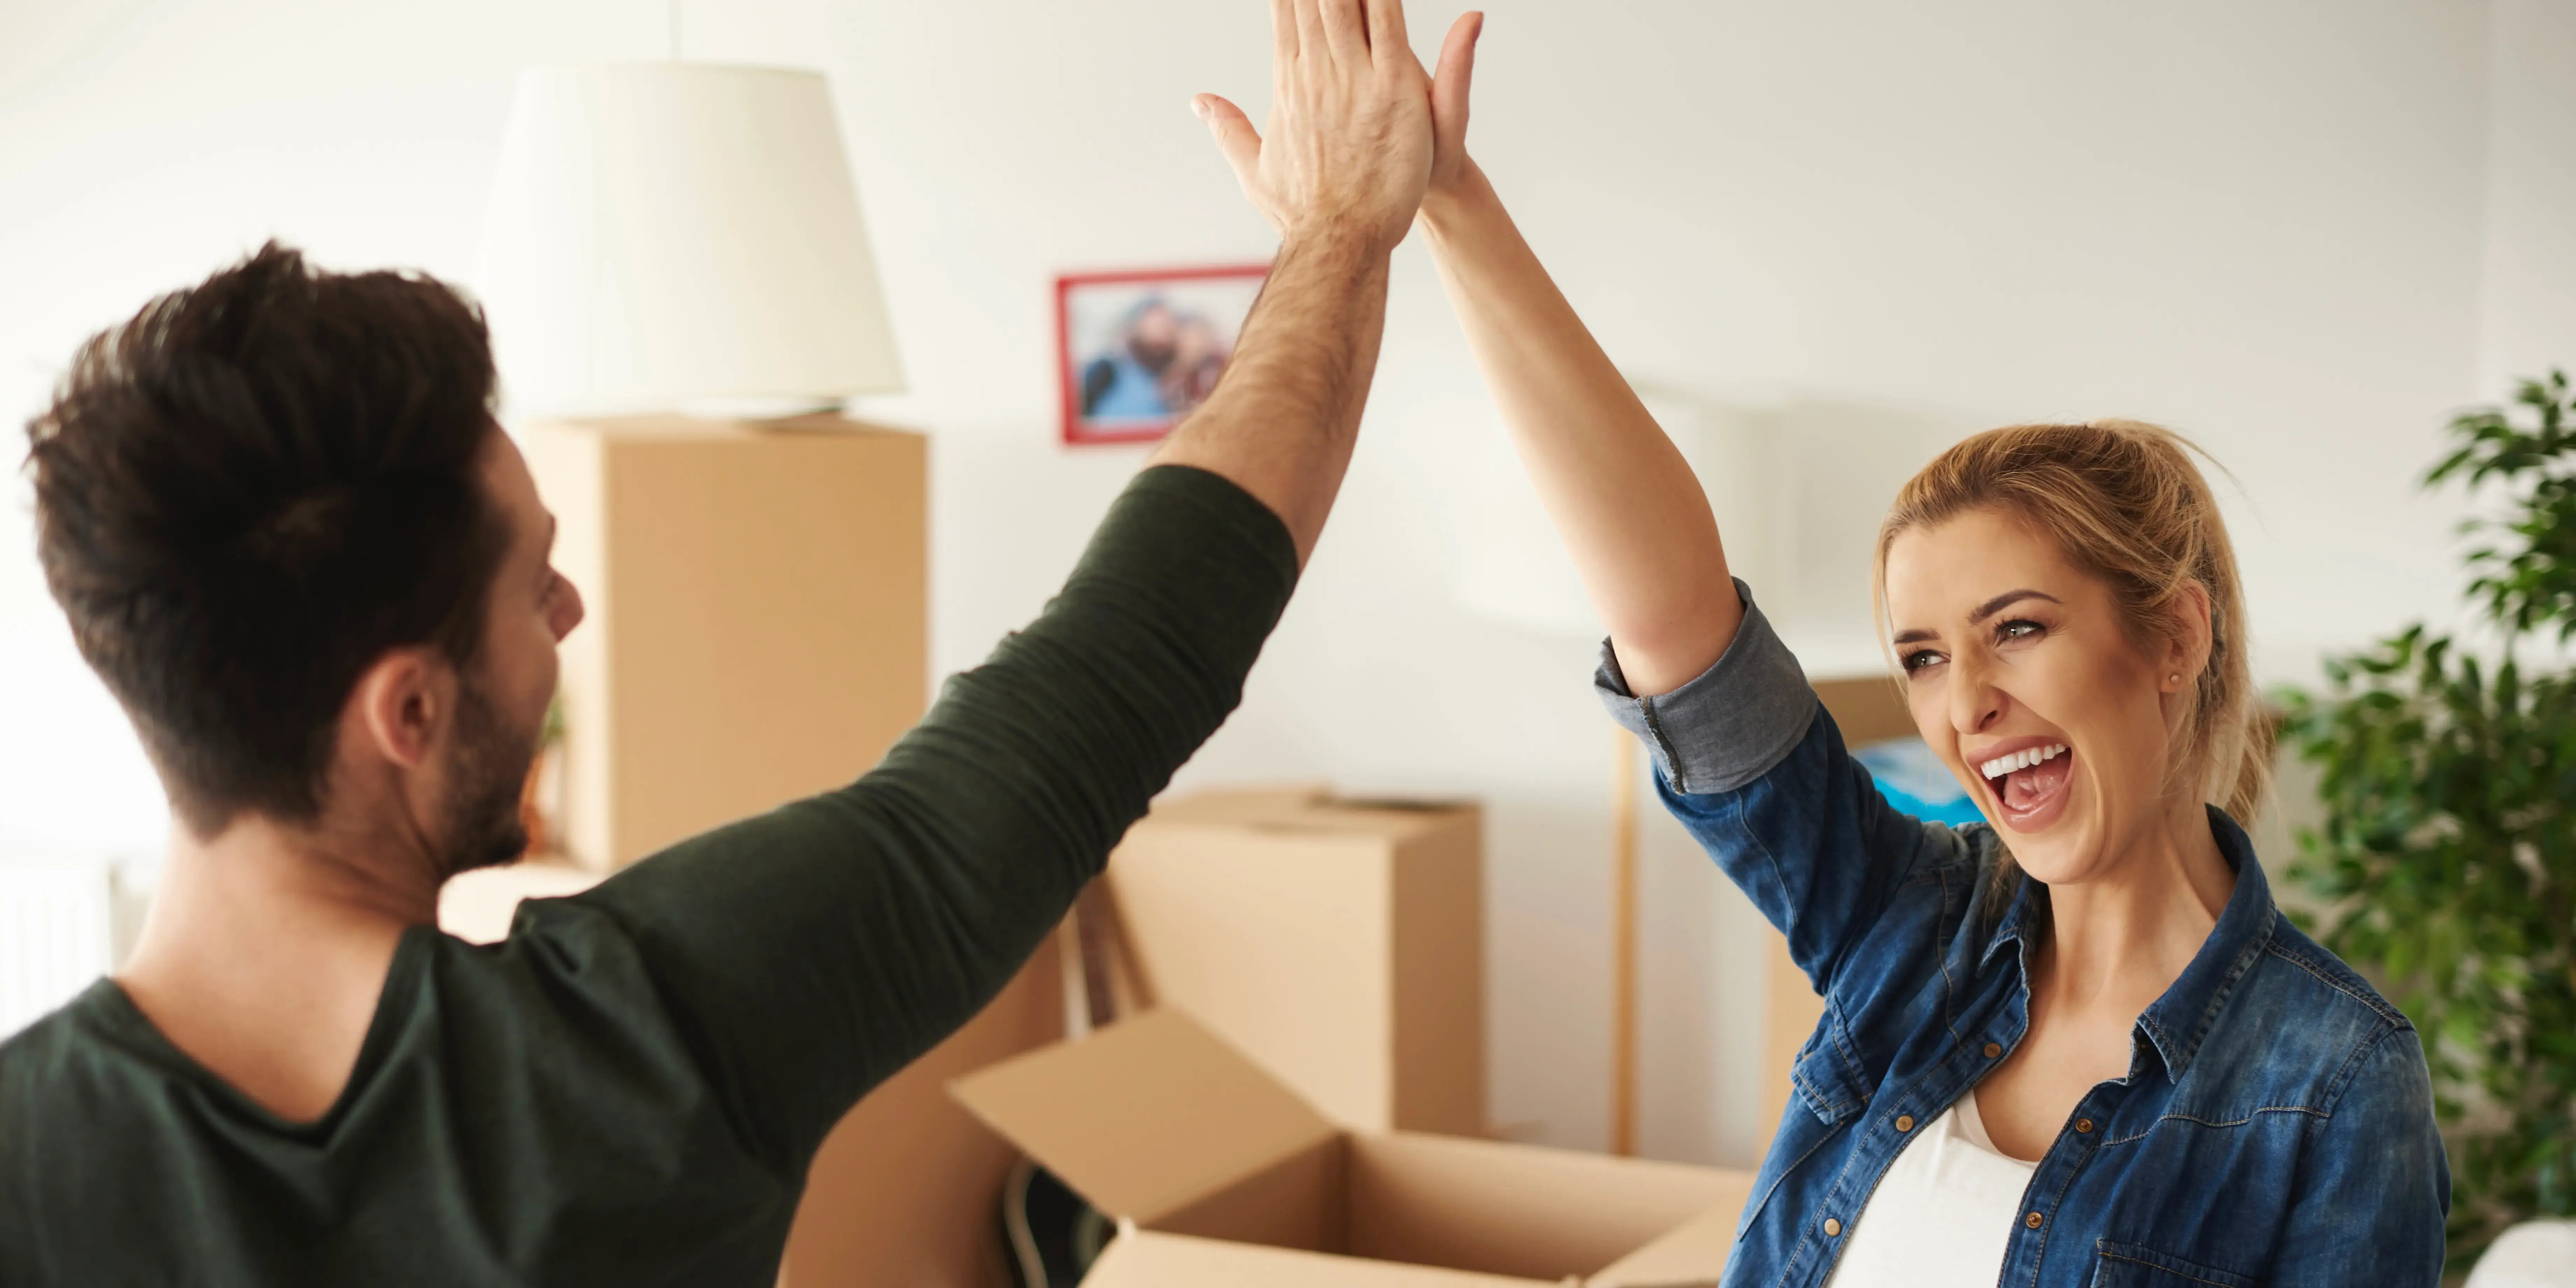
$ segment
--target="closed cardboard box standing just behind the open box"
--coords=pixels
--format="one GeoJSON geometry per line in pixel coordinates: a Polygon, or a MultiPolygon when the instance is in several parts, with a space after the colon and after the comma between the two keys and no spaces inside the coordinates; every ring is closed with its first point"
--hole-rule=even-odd
{"type": "Polygon", "coordinates": [[[1334,1123],[1486,1131],[1476,804],[1188,796],[1128,829],[1110,891],[1141,992],[1334,1123]]]}

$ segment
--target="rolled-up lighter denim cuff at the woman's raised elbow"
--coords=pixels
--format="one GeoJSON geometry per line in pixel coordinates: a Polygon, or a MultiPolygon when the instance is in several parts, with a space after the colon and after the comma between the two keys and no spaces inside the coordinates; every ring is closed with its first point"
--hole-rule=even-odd
{"type": "Polygon", "coordinates": [[[1806,685],[1798,657],[1780,644],[1741,577],[1736,598],[1744,603],[1744,626],[1736,626],[1726,657],[1672,693],[1631,693],[1618,654],[1602,641],[1592,690],[1610,719],[1646,744],[1672,791],[1736,791],[1788,760],[1816,719],[1816,690],[1806,685]]]}

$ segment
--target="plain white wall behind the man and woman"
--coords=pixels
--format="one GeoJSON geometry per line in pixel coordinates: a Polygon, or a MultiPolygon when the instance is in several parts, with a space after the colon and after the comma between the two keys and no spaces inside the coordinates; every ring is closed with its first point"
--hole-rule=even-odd
{"type": "MultiPolygon", "coordinates": [[[[1417,5],[1430,46],[1458,5],[1417,5]]],[[[0,410],[268,234],[464,276],[510,70],[665,31],[608,0],[0,0],[0,410]]],[[[1188,111],[1260,116],[1265,39],[1260,0],[688,5],[690,57],[835,77],[912,376],[866,412],[938,438],[943,670],[1036,611],[1141,459],[1054,446],[1051,276],[1267,250],[1188,111]]],[[[2411,484],[2437,425],[2576,363],[2571,54],[2550,0],[1492,0],[1476,152],[1631,371],[1785,407],[1798,574],[1762,590],[1811,657],[1875,652],[1857,562],[1940,443],[2138,415],[2233,469],[2262,667],[2295,677],[2450,613],[2455,505],[2411,484]]],[[[1342,510],[1185,781],[1486,796],[1497,1118],[1597,1144],[1592,647],[1453,592],[1520,541],[1486,500],[1515,479],[1406,247],[1342,510]]],[[[157,791],[62,634],[15,518],[0,837],[149,850],[157,791]]],[[[1646,884],[1646,1144],[1744,1159],[1752,914],[1669,827],[1646,884]]]]}

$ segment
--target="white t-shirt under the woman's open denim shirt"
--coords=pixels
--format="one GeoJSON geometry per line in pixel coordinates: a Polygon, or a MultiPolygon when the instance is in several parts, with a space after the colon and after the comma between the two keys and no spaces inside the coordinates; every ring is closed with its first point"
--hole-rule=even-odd
{"type": "Polygon", "coordinates": [[[2038,1167],[1994,1149],[1960,1095],[1878,1177],[1826,1288],[1994,1288],[2038,1167]]]}

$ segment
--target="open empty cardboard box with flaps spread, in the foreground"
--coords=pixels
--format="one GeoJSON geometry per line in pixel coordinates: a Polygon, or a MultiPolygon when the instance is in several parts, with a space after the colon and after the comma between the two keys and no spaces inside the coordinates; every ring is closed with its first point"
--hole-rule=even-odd
{"type": "Polygon", "coordinates": [[[1685,1288],[1726,1267],[1747,1172],[1324,1121],[1157,1010],[951,1084],[1121,1236],[1087,1288],[1685,1288]]]}

